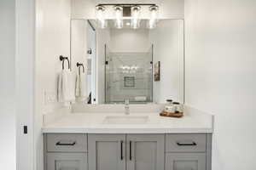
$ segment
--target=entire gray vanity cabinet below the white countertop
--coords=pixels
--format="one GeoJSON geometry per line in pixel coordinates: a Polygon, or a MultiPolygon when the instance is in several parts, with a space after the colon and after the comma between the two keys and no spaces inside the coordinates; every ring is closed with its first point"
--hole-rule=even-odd
{"type": "Polygon", "coordinates": [[[44,135],[45,170],[211,170],[211,133],[44,135]]]}

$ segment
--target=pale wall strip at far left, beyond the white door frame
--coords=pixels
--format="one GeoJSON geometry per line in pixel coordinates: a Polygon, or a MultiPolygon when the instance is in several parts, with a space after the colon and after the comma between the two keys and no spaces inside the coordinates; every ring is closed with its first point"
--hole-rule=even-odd
{"type": "Polygon", "coordinates": [[[0,165],[16,168],[15,0],[0,1],[0,165]]]}

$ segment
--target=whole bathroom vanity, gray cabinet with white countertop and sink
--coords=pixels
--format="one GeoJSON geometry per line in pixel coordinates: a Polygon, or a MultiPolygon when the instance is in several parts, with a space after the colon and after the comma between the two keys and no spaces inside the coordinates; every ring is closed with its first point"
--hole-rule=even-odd
{"type": "Polygon", "coordinates": [[[198,111],[180,119],[73,112],[43,133],[45,170],[211,169],[212,116],[198,111]]]}

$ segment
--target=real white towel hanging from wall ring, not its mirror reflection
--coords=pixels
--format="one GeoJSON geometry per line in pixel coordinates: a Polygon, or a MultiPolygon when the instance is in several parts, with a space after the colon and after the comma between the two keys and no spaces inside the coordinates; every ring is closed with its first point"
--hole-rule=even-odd
{"type": "Polygon", "coordinates": [[[58,99],[65,105],[75,101],[73,74],[69,70],[62,70],[58,81],[58,99]]]}

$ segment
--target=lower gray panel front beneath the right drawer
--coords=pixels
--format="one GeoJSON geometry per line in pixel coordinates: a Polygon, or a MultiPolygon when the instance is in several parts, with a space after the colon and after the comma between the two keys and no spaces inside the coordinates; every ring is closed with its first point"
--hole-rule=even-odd
{"type": "Polygon", "coordinates": [[[206,170],[204,153],[168,153],[166,170],[206,170]]]}

